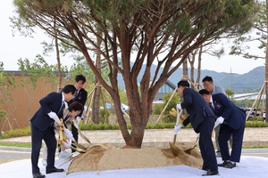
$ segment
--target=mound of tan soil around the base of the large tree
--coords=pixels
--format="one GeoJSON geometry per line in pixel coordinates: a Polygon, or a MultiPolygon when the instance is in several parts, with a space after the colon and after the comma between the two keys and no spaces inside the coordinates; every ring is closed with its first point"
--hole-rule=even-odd
{"type": "Polygon", "coordinates": [[[81,171],[101,171],[128,168],[163,167],[163,166],[192,166],[201,168],[203,159],[200,152],[190,150],[189,145],[176,144],[179,156],[175,157],[170,148],[115,148],[107,144],[96,144],[87,148],[86,153],[74,157],[69,173],[81,171]]]}

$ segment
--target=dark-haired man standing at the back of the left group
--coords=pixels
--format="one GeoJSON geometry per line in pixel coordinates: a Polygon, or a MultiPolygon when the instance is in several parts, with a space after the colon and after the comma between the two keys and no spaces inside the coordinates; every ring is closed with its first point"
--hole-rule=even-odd
{"type": "MultiPolygon", "coordinates": [[[[83,110],[81,110],[80,114],[76,117],[77,125],[80,124],[80,119],[84,111],[84,106],[88,99],[88,92],[83,88],[85,83],[86,83],[86,77],[84,77],[83,75],[80,74],[75,77],[75,84],[74,84],[76,88],[75,96],[73,100],[68,102],[68,104],[70,105],[71,102],[73,101],[79,101],[83,105],[83,110]]],[[[74,140],[78,142],[79,140],[78,129],[73,124],[71,125],[71,134],[73,135],[74,140]]],[[[72,147],[76,148],[74,144],[72,144],[72,147]]],[[[71,150],[71,152],[75,152],[75,150],[71,150]]]]}

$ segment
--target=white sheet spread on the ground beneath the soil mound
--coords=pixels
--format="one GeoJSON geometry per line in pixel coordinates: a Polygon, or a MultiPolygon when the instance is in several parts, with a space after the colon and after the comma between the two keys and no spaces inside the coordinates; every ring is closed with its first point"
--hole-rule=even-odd
{"type": "MultiPolygon", "coordinates": [[[[218,158],[218,162],[222,162],[218,158]]],[[[138,169],[121,169],[121,170],[107,170],[107,171],[91,171],[66,174],[71,161],[68,159],[57,159],[55,166],[64,168],[64,173],[46,174],[46,178],[200,178],[205,171],[189,167],[189,166],[167,166],[167,167],[153,167],[153,168],[138,168],[138,169]]],[[[242,156],[240,163],[235,168],[227,169],[219,167],[219,175],[210,176],[211,178],[268,178],[267,174],[268,158],[242,156]]],[[[39,160],[41,173],[45,174],[45,167],[41,165],[39,160]]],[[[32,177],[30,159],[21,159],[0,165],[0,178],[29,178],[32,177]]]]}

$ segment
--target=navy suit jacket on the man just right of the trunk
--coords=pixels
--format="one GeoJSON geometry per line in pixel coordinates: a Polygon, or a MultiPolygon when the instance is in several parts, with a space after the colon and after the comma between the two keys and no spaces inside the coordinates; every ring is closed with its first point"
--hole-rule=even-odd
{"type": "Polygon", "coordinates": [[[192,88],[185,88],[183,90],[183,101],[181,108],[186,109],[189,116],[183,121],[183,125],[188,125],[190,122],[196,133],[198,125],[202,123],[207,117],[214,117],[214,112],[206,103],[204,97],[197,93],[192,88]]]}

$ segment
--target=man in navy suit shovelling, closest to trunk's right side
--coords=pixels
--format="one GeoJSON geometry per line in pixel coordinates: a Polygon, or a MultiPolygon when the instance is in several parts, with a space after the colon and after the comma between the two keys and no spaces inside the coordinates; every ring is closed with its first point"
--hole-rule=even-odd
{"type": "Polygon", "coordinates": [[[178,83],[178,93],[180,97],[183,97],[183,101],[177,105],[177,108],[186,109],[189,116],[182,124],[175,126],[175,133],[177,134],[183,125],[191,123],[195,132],[200,134],[199,147],[204,161],[202,169],[207,171],[203,176],[219,174],[214,144],[211,139],[215,121],[213,110],[209,108],[201,94],[189,88],[186,80],[178,83]]]}

